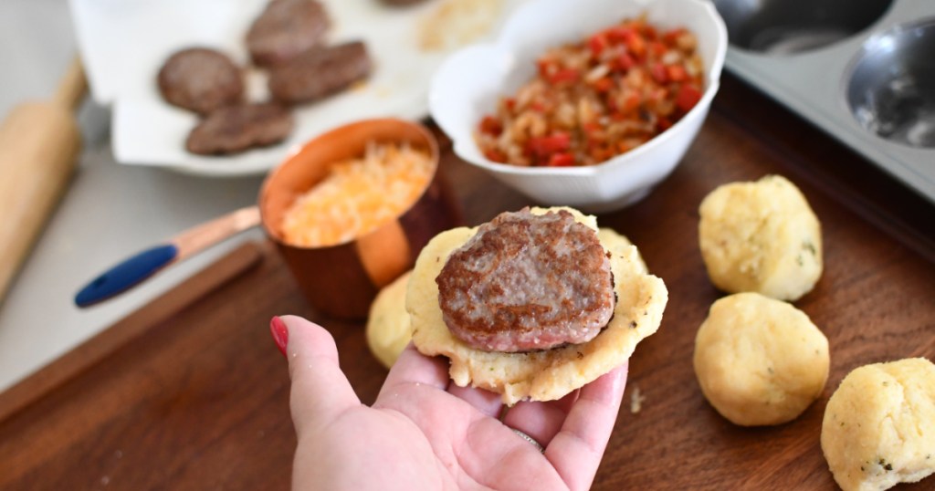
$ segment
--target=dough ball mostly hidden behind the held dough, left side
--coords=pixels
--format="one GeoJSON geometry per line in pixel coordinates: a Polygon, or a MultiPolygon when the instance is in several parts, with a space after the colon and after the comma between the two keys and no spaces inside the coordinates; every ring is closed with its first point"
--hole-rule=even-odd
{"type": "Polygon", "coordinates": [[[384,367],[393,367],[396,358],[412,339],[406,289],[411,271],[386,285],[373,299],[367,318],[367,346],[384,367]]]}

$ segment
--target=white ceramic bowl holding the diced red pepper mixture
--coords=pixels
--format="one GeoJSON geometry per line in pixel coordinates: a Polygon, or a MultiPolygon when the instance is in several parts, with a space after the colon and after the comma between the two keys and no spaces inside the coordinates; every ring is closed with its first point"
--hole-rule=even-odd
{"type": "Polygon", "coordinates": [[[724,21],[705,0],[534,0],[517,9],[496,44],[471,46],[445,60],[432,79],[429,110],[459,157],[539,203],[596,213],[621,209],[647,195],[682,160],[717,93],[726,47],[724,21]],[[683,119],[597,166],[510,166],[483,156],[474,140],[477,124],[499,97],[535,77],[539,55],[643,13],[660,28],[686,27],[698,37],[705,92],[683,119]]]}

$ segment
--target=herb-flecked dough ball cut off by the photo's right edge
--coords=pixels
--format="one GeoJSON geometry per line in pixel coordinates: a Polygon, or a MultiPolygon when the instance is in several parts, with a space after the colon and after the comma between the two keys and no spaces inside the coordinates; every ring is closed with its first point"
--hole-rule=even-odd
{"type": "Polygon", "coordinates": [[[825,408],[821,448],[844,491],[915,483],[935,471],[935,365],[909,358],[856,368],[825,408]]]}

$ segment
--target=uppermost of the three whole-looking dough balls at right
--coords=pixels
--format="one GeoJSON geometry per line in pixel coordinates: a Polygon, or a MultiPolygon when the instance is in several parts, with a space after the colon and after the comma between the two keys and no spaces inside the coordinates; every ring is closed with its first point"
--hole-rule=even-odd
{"type": "Polygon", "coordinates": [[[818,282],[821,225],[805,196],[784,177],[720,186],[699,212],[701,256],[721,290],[792,301],[818,282]]]}

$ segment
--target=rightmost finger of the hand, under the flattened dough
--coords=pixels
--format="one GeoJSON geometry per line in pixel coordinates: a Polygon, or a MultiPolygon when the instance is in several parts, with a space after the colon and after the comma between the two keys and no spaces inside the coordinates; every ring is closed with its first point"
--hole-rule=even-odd
{"type": "Polygon", "coordinates": [[[624,397],[626,368],[614,368],[583,386],[565,424],[545,449],[569,489],[587,489],[594,481],[624,397]]]}

